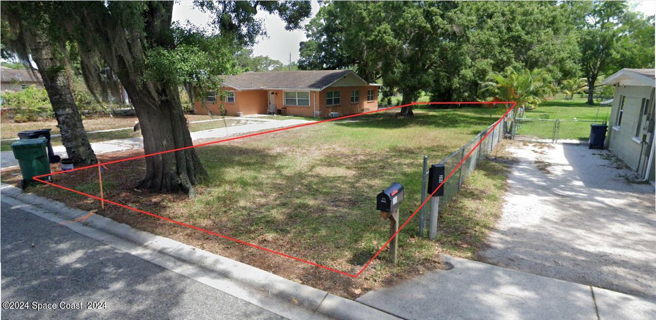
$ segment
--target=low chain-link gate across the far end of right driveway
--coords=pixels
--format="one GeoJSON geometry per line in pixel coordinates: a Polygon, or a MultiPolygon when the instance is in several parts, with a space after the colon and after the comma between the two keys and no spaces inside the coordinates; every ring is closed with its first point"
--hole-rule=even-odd
{"type": "Polygon", "coordinates": [[[590,125],[603,121],[516,118],[512,139],[552,144],[588,144],[590,125]]]}

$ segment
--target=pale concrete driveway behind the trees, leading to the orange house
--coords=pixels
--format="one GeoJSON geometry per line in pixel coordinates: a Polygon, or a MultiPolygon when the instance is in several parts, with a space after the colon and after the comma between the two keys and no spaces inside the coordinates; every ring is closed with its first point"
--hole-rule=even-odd
{"type": "MultiPolygon", "coordinates": [[[[248,123],[246,125],[236,125],[232,127],[224,127],[217,129],[209,129],[191,132],[192,140],[206,140],[206,139],[220,139],[226,136],[234,136],[237,134],[245,134],[249,132],[256,132],[262,130],[271,130],[282,127],[290,127],[293,125],[300,125],[301,123],[310,123],[312,121],[307,120],[298,120],[298,119],[287,119],[287,120],[272,120],[272,119],[260,119],[256,117],[240,117],[239,119],[245,119],[246,121],[251,121],[255,123],[248,123]]],[[[234,119],[234,118],[231,118],[234,119]]],[[[125,138],[125,139],[115,139],[108,140],[104,142],[94,142],[91,144],[91,148],[97,154],[141,149],[144,147],[144,141],[142,138],[125,138]]],[[[66,148],[64,146],[53,147],[52,150],[56,155],[64,158],[67,157],[66,148]]],[[[18,161],[14,158],[13,151],[3,151],[0,152],[0,169],[7,169],[18,165],[18,161]]]]}

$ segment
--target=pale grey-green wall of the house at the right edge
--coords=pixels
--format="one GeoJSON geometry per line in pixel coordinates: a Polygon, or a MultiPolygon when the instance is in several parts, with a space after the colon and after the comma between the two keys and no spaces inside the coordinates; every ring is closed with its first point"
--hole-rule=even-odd
{"type": "MultiPolygon", "coordinates": [[[[613,107],[609,119],[609,134],[608,134],[608,149],[615,152],[625,163],[634,170],[638,170],[641,174],[646,169],[649,159],[649,152],[651,151],[651,143],[642,143],[643,135],[646,132],[653,132],[653,113],[654,113],[654,88],[642,86],[618,86],[615,89],[615,96],[613,97],[613,107]],[[617,125],[617,115],[619,113],[619,106],[621,104],[621,96],[625,96],[625,104],[622,115],[621,125],[617,125]],[[636,128],[638,127],[638,119],[640,118],[640,108],[642,106],[642,99],[649,99],[649,115],[651,125],[642,129],[636,137],[636,128]],[[641,154],[642,147],[642,154],[641,154]]],[[[653,158],[652,158],[653,160],[653,158]]],[[[653,179],[654,165],[651,165],[651,179],[653,179]]]]}

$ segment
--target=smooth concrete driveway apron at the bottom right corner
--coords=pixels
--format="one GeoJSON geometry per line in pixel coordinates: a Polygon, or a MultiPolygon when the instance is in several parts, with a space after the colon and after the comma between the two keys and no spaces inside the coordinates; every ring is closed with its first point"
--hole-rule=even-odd
{"type": "Polygon", "coordinates": [[[443,256],[430,271],[356,301],[403,319],[650,320],[656,302],[619,292],[443,256]]]}

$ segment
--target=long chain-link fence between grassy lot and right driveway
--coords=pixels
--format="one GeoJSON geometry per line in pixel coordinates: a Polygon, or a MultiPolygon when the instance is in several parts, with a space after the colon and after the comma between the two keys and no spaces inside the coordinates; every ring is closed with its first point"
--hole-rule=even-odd
{"type": "MultiPolygon", "coordinates": [[[[442,188],[444,190],[444,195],[440,197],[438,214],[439,212],[442,212],[444,207],[451,201],[451,199],[453,199],[453,197],[460,190],[462,184],[467,179],[467,177],[470,176],[472,172],[474,172],[474,170],[476,169],[476,167],[478,167],[478,165],[480,165],[481,163],[483,163],[483,161],[485,161],[487,155],[491,153],[494,150],[494,148],[499,144],[503,136],[503,132],[504,132],[503,128],[504,128],[503,119],[493,123],[489,127],[485,128],[485,130],[479,132],[476,135],[476,137],[470,140],[470,142],[467,142],[459,150],[451,153],[451,155],[445,157],[442,161],[440,161],[440,164],[444,165],[446,181],[442,185],[442,188]],[[499,125],[495,127],[497,123],[499,123],[499,125]],[[467,157],[467,155],[469,156],[467,157]],[[460,167],[458,167],[459,163],[462,163],[460,167]],[[453,174],[451,174],[452,171],[453,174]],[[451,174],[451,176],[449,176],[449,174],[451,174]]],[[[425,170],[427,163],[428,163],[428,156],[424,156],[424,172],[422,176],[422,181],[424,181],[424,186],[426,185],[425,184],[426,180],[428,180],[428,170],[425,170]]],[[[422,189],[425,190],[425,187],[422,189]]],[[[421,203],[424,203],[424,200],[428,195],[426,193],[430,193],[432,191],[433,190],[428,190],[428,192],[422,192],[421,203]]],[[[427,225],[426,222],[428,221],[427,213],[429,211],[428,209],[429,207],[430,206],[427,204],[421,207],[420,209],[420,213],[419,213],[420,237],[424,233],[424,226],[427,225]]]]}

